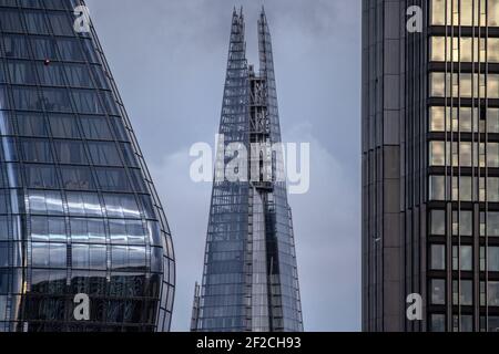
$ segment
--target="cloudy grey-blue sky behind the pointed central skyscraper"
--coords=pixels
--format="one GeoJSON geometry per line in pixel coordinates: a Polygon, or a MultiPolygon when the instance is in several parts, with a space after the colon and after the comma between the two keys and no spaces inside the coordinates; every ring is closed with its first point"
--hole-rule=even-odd
{"type": "Polygon", "coordinates": [[[247,58],[271,27],[283,140],[310,143],[310,188],[291,195],[306,331],[360,331],[360,1],[86,0],[172,229],[172,331],[189,331],[211,184],[190,177],[193,144],[214,145],[231,19],[247,58]]]}

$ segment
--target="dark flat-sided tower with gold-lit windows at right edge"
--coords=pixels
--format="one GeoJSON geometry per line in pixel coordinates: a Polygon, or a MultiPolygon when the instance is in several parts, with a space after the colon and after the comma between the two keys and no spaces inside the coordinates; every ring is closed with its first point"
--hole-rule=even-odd
{"type": "Polygon", "coordinates": [[[499,1],[366,0],[363,24],[364,330],[498,331],[499,1]]]}

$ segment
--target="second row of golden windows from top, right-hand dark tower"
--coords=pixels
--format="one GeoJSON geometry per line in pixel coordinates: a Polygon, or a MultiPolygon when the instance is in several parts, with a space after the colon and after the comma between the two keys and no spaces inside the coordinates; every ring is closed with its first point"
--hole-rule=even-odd
{"type": "Polygon", "coordinates": [[[499,63],[499,38],[431,37],[430,61],[499,63]]]}

